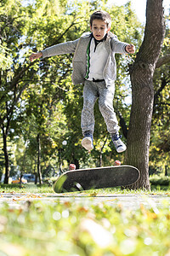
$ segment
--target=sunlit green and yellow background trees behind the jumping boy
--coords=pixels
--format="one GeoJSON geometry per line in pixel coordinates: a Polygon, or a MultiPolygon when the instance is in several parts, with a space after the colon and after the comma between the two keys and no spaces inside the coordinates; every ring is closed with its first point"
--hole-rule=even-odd
{"type": "MultiPolygon", "coordinates": [[[[112,17],[111,32],[121,41],[133,43],[137,52],[144,27],[137,20],[131,3],[108,6],[107,1],[38,0],[6,1],[0,6],[0,125],[1,172],[5,183],[9,172],[37,172],[54,175],[69,163],[77,167],[112,165],[124,154],[116,154],[105,122],[95,105],[94,150],[88,154],[81,147],[82,84],[71,82],[73,55],[60,55],[29,62],[32,51],[79,38],[89,31],[89,16],[95,9],[105,9],[112,17]],[[63,143],[66,141],[65,143],[63,143]]],[[[161,55],[169,50],[169,27],[161,55]]],[[[135,60],[136,55],[132,56],[135,60]]],[[[168,58],[168,55],[167,55],[168,58]]],[[[128,76],[133,60],[116,55],[117,79],[114,107],[122,133],[127,137],[131,104],[128,76]],[[128,61],[129,65],[127,65],[128,61]]],[[[165,59],[162,57],[162,61],[165,59]]],[[[166,61],[167,63],[168,61],[166,61]]],[[[169,66],[154,73],[154,108],[151,126],[150,166],[166,166],[169,161],[169,66]]]]}

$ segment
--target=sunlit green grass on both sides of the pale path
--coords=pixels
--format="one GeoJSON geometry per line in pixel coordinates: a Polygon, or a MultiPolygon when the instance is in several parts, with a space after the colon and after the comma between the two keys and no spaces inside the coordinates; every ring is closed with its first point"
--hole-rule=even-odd
{"type": "MultiPolygon", "coordinates": [[[[0,192],[54,193],[48,186],[1,185],[0,192]]],[[[152,190],[152,194],[168,194],[152,190]]],[[[132,191],[100,189],[96,193],[127,194],[132,191]]],[[[90,193],[90,194],[89,194],[90,193]]],[[[134,191],[133,194],[147,194],[134,191]]],[[[0,207],[0,255],[3,256],[169,256],[170,213],[165,201],[161,207],[140,205],[127,210],[120,204],[94,204],[89,201],[26,201],[19,207],[0,207]]]]}

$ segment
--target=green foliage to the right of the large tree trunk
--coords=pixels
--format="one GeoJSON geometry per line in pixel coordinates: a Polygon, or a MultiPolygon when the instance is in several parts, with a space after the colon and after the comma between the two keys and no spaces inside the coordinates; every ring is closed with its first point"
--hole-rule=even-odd
{"type": "MultiPolygon", "coordinates": [[[[167,26],[161,56],[169,53],[170,29],[167,26]]],[[[154,74],[155,102],[151,127],[150,143],[150,166],[165,167],[170,161],[170,139],[169,139],[169,81],[170,65],[167,63],[156,69],[154,74]]]]}

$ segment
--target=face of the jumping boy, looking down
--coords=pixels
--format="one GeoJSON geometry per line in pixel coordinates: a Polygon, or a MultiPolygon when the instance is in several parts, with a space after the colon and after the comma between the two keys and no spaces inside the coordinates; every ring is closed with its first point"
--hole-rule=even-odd
{"type": "Polygon", "coordinates": [[[105,34],[108,33],[111,27],[107,27],[107,24],[103,20],[93,20],[92,26],[90,26],[91,32],[93,32],[96,40],[105,38],[105,34]]]}

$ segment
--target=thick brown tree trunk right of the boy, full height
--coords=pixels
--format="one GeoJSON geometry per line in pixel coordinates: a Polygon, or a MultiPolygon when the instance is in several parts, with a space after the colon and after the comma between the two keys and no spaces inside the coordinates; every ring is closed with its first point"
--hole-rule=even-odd
{"type": "Polygon", "coordinates": [[[136,166],[140,172],[139,181],[130,186],[130,189],[150,189],[150,125],[154,102],[152,79],[164,35],[162,0],[148,0],[144,41],[130,69],[132,108],[125,162],[128,165],[136,166]]]}

